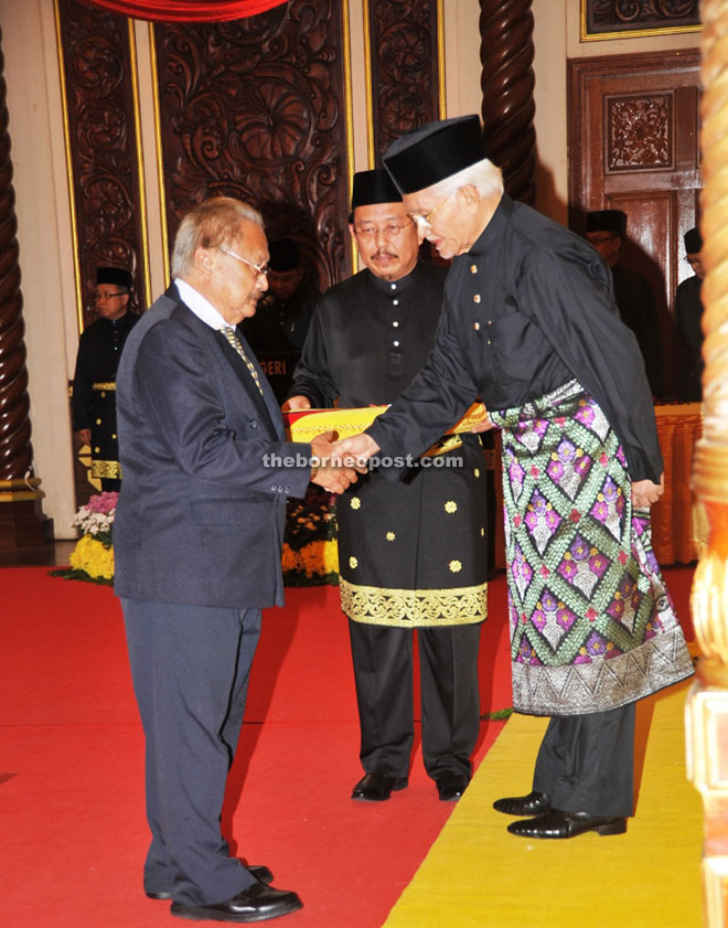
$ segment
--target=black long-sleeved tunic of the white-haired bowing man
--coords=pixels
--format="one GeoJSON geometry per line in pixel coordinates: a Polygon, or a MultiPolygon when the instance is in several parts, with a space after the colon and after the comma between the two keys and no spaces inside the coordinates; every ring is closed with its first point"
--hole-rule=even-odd
{"type": "Polygon", "coordinates": [[[384,454],[416,454],[477,396],[515,408],[575,377],[617,433],[630,478],[659,482],[652,395],[608,267],[578,235],[503,195],[452,263],[427,365],[367,431],[384,454]]]}

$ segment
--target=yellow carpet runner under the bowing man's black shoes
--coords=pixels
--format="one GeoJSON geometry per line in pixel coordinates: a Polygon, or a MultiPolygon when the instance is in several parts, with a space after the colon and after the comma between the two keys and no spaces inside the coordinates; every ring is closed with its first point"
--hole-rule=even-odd
{"type": "Polygon", "coordinates": [[[623,835],[528,841],[501,796],[532,787],[546,719],[514,715],[385,928],[700,928],[700,797],[685,776],[689,683],[638,706],[636,814],[623,835]]]}

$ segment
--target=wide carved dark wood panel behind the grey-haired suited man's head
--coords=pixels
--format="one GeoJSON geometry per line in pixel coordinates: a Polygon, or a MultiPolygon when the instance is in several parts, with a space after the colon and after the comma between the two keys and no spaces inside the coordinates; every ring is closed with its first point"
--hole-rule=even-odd
{"type": "Polygon", "coordinates": [[[347,268],[341,3],[291,0],[245,20],[154,28],[169,239],[231,195],[288,235],[322,287],[347,268]]]}

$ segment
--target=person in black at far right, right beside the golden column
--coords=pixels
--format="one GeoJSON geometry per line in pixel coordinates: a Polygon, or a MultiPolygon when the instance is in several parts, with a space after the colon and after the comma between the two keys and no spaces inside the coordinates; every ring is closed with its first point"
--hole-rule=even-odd
{"type": "Polygon", "coordinates": [[[675,292],[675,327],[677,329],[677,398],[686,403],[703,399],[703,237],[699,228],[685,233],[685,260],[693,276],[683,280],[675,292]]]}

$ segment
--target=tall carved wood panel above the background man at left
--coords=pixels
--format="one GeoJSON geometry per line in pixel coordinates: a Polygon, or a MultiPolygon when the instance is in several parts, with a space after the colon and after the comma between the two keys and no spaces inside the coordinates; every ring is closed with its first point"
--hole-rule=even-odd
{"type": "MultiPolygon", "coordinates": [[[[126,267],[142,288],[141,215],[126,17],[58,0],[66,113],[84,299],[98,265],[126,267]]],[[[93,317],[84,310],[84,321],[93,317]]]]}

